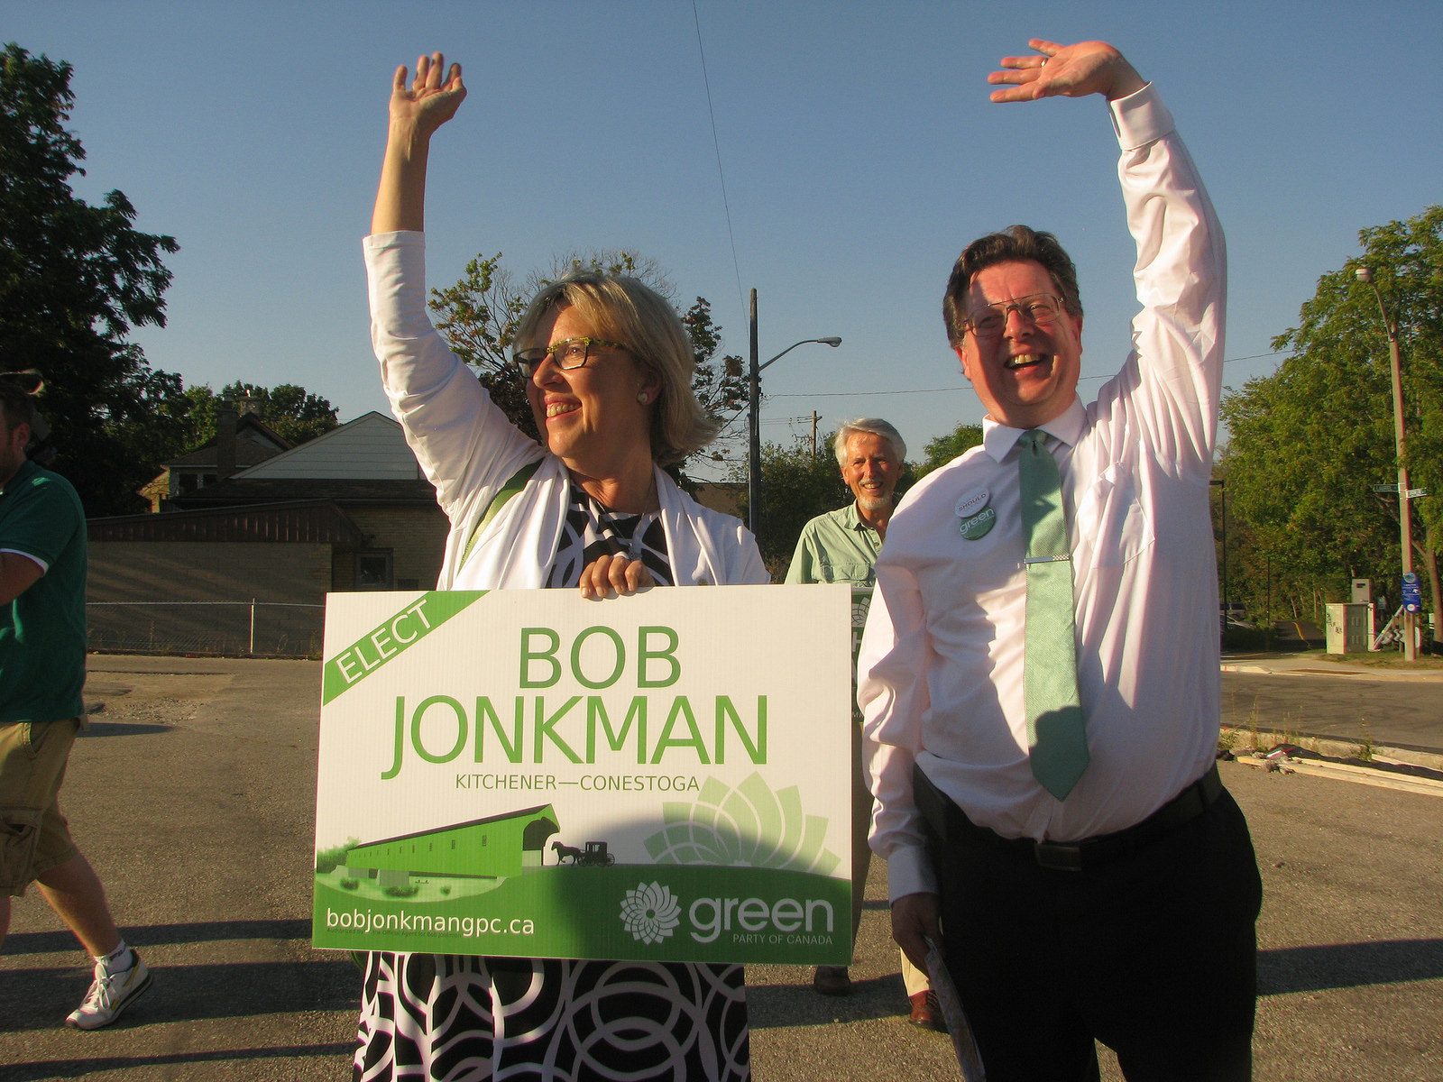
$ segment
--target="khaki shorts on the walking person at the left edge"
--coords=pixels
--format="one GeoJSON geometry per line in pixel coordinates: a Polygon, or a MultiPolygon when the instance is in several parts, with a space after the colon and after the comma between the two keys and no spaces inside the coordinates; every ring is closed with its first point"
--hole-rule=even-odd
{"type": "Polygon", "coordinates": [[[0,724],[0,892],[19,897],[76,856],[56,795],[79,718],[0,724]]]}

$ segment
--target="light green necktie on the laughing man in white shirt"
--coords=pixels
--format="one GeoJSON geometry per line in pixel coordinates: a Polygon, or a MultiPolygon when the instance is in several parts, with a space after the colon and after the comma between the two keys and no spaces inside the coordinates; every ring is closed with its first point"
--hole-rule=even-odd
{"type": "Polygon", "coordinates": [[[1022,535],[1027,542],[1022,671],[1032,773],[1062,801],[1087,769],[1088,752],[1078,698],[1072,555],[1062,511],[1062,476],[1046,439],[1040,428],[1029,428],[1017,439],[1022,535]]]}

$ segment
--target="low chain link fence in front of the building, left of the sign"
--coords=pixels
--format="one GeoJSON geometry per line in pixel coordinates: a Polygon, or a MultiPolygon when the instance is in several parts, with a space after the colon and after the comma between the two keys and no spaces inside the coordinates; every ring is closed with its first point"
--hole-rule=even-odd
{"type": "Polygon", "coordinates": [[[323,604],[87,602],[89,649],[319,658],[323,604]]]}

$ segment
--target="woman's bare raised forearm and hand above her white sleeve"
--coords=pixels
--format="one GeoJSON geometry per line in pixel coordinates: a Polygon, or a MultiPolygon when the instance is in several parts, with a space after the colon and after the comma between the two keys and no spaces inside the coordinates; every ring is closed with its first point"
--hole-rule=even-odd
{"type": "Polygon", "coordinates": [[[381,163],[381,186],[375,193],[371,232],[426,228],[426,156],[431,134],[456,115],[466,97],[460,65],[453,63],[442,81],[446,61],[439,52],[416,61],[416,81],[405,87],[405,65],[395,69],[391,84],[391,124],[381,163]]]}

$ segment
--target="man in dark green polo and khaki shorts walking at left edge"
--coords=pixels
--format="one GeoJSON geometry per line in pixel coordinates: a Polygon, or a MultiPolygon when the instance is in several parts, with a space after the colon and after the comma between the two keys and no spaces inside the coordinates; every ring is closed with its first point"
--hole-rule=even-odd
{"type": "Polygon", "coordinates": [[[65,478],[26,457],[40,388],[35,372],[0,372],[0,942],[10,897],[39,883],[95,956],[89,993],[65,1020],[94,1030],[150,974],[115,931],[56,799],[84,720],[85,512],[65,478]]]}

